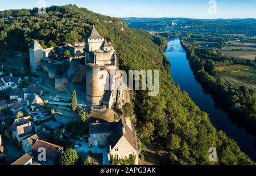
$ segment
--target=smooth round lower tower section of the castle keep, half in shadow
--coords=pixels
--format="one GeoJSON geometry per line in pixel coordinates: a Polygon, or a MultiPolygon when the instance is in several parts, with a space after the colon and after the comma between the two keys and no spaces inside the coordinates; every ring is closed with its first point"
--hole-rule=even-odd
{"type": "Polygon", "coordinates": [[[105,87],[108,87],[108,71],[98,65],[86,65],[86,101],[91,106],[101,106],[105,87]]]}

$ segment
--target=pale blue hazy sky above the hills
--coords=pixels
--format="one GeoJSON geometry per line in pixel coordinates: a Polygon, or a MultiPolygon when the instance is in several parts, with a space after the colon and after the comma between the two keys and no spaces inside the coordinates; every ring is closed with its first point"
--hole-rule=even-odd
{"type": "MultiPolygon", "coordinates": [[[[42,0],[41,0],[42,1],[42,0]]],[[[45,0],[46,6],[75,4],[115,17],[256,18],[256,0],[211,0],[216,14],[209,13],[210,0],[45,0]]],[[[39,0],[0,0],[0,10],[38,7],[39,0]]]]}

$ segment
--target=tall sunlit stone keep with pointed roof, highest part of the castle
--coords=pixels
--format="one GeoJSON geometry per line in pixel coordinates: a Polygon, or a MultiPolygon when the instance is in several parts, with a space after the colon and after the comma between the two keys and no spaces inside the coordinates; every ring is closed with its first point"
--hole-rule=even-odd
{"type": "Polygon", "coordinates": [[[93,26],[85,36],[86,101],[91,106],[112,106],[110,78],[117,71],[117,56],[113,46],[101,37],[93,26]],[[106,91],[105,91],[106,90],[106,91]],[[109,95],[110,94],[110,95],[109,95]],[[105,98],[104,98],[105,96],[105,98]]]}

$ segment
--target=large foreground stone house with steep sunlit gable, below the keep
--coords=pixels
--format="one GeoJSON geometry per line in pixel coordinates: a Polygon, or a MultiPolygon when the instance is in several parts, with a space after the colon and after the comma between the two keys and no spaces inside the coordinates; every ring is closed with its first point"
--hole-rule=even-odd
{"type": "Polygon", "coordinates": [[[90,123],[89,147],[106,146],[108,157],[117,159],[135,157],[138,164],[138,144],[135,131],[131,129],[130,120],[120,119],[118,122],[90,123]]]}

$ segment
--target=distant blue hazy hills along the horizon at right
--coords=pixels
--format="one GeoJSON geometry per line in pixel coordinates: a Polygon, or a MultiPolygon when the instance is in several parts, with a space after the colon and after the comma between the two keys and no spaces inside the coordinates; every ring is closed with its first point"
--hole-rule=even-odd
{"type": "Polygon", "coordinates": [[[256,19],[123,18],[131,28],[256,35],[256,19]],[[172,26],[173,23],[173,26],[172,26]],[[167,28],[168,26],[168,28],[167,28]],[[185,28],[187,27],[187,28],[185,28]]]}

